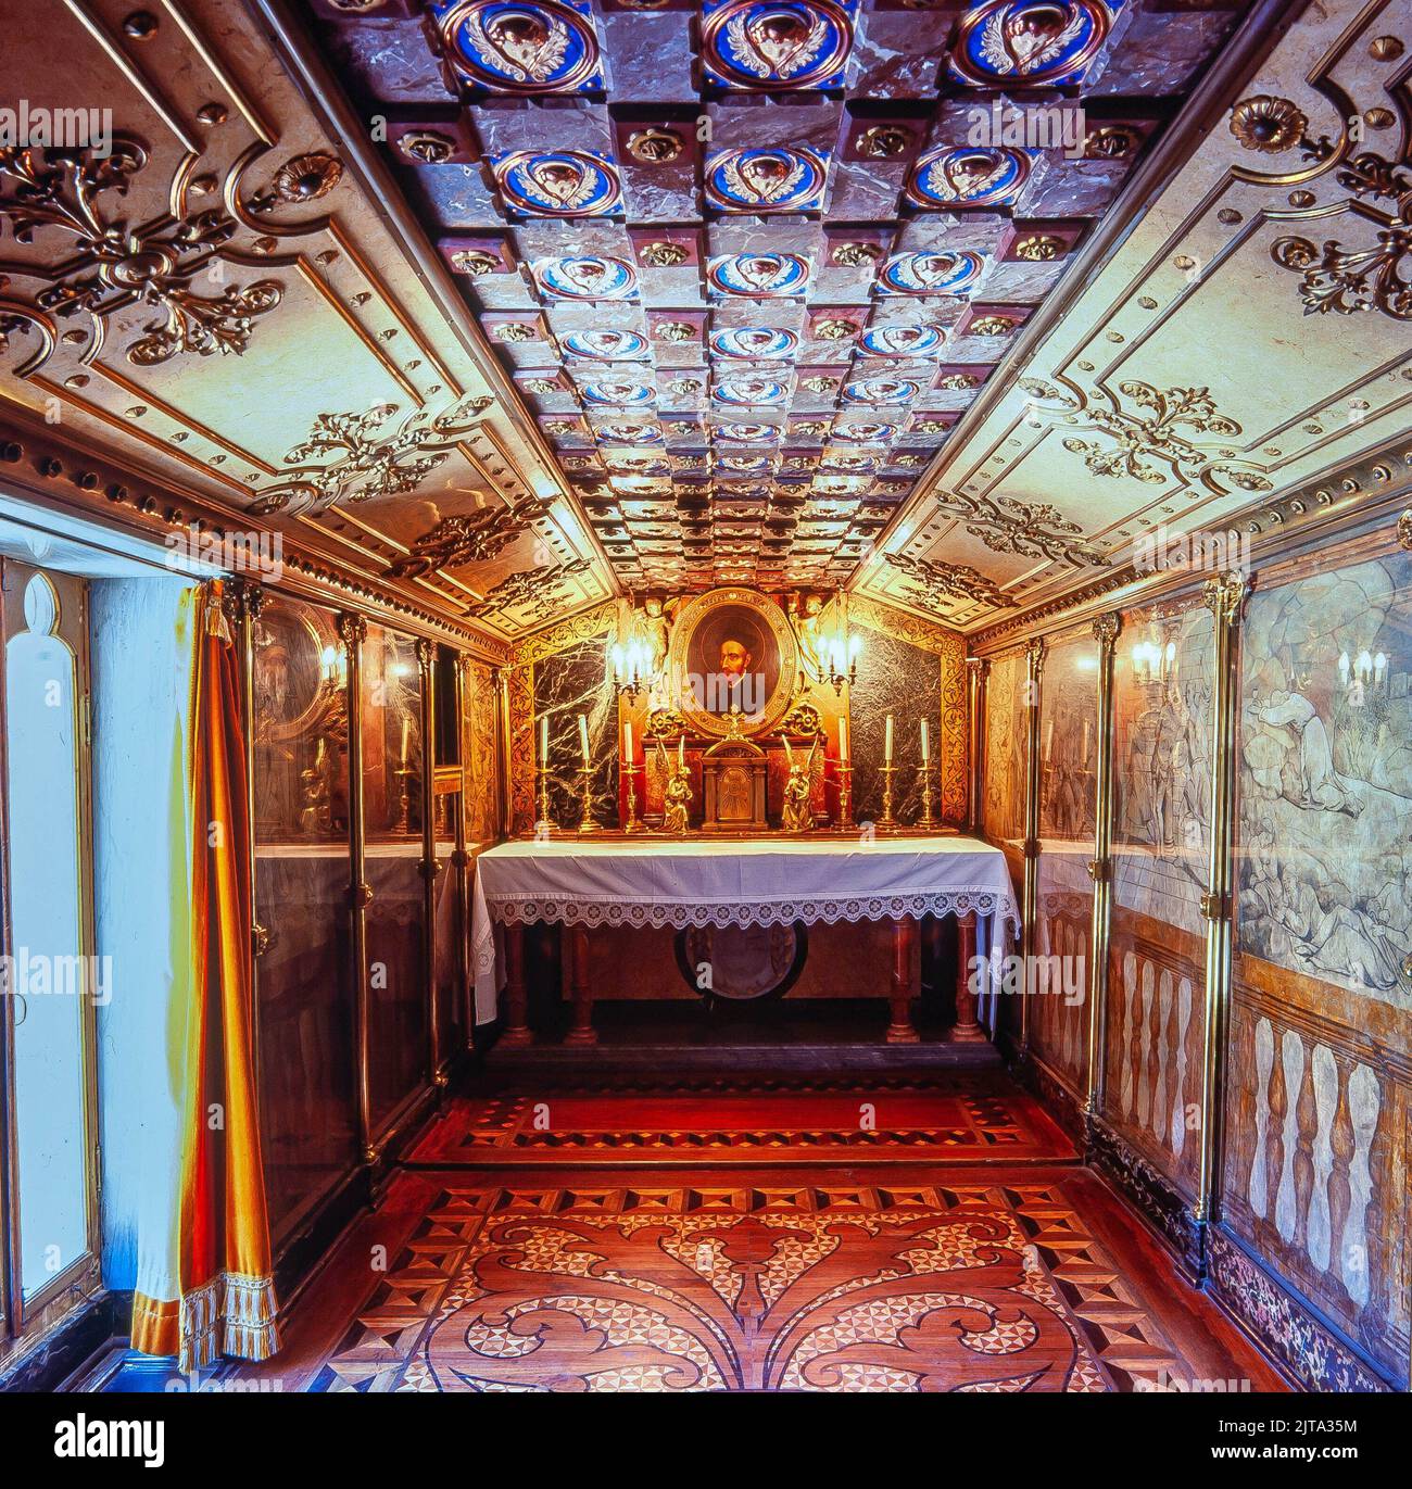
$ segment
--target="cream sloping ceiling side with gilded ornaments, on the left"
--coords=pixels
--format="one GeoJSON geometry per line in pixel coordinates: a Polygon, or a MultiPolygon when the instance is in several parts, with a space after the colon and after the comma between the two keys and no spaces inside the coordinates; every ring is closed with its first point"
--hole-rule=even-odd
{"type": "Polygon", "coordinates": [[[490,634],[612,591],[494,357],[246,7],[21,7],[0,98],[12,409],[490,634]]]}

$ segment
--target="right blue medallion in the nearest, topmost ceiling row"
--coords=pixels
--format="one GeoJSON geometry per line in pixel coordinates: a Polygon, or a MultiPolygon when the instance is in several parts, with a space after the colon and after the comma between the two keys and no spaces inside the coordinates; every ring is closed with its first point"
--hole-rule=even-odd
{"type": "Polygon", "coordinates": [[[1113,30],[1113,9],[1104,0],[982,0],[958,27],[952,76],[980,88],[1077,83],[1113,30]]]}

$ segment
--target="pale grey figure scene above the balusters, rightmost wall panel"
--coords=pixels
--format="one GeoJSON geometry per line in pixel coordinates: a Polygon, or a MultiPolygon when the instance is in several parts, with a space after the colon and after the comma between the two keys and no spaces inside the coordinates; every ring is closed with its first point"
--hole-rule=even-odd
{"type": "Polygon", "coordinates": [[[1412,557],[1250,600],[1241,948],[1412,1007],[1412,557]]]}

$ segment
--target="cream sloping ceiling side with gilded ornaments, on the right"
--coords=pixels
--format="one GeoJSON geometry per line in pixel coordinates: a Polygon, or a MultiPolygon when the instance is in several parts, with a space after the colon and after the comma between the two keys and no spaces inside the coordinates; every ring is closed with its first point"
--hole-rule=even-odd
{"type": "Polygon", "coordinates": [[[1311,4],[1268,40],[1193,100],[1175,173],[988,384],[861,591],[990,625],[1406,436],[1412,4],[1311,4]]]}

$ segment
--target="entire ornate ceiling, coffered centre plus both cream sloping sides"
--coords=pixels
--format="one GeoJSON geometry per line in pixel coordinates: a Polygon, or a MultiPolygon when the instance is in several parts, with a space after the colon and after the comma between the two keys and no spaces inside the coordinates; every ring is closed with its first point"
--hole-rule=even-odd
{"type": "Polygon", "coordinates": [[[499,642],[722,582],[990,627],[1405,432],[1409,18],[24,7],[6,107],[113,138],[0,155],[0,399],[499,642]]]}

